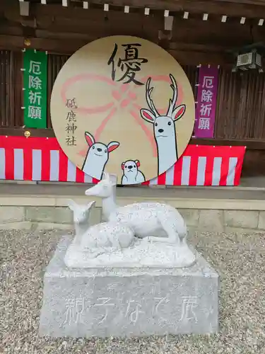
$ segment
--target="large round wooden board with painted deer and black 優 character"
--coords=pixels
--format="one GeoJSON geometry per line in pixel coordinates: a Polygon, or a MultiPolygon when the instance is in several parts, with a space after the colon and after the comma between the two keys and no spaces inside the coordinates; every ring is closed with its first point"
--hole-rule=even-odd
{"type": "Polygon", "coordinates": [[[194,95],[169,53],[148,40],[115,35],[67,60],[54,83],[51,116],[61,149],[84,173],[143,183],[170,169],[186,149],[194,95]]]}

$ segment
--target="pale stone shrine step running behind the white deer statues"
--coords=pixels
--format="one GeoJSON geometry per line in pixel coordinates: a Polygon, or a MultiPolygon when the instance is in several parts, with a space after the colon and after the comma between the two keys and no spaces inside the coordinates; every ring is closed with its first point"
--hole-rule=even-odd
{"type": "MultiPolygon", "coordinates": [[[[69,199],[89,202],[89,185],[0,184],[0,229],[72,229],[69,199]]],[[[176,207],[189,229],[265,232],[265,189],[236,187],[117,188],[117,203],[165,202],[176,207]]],[[[102,220],[97,199],[91,224],[102,220]]]]}

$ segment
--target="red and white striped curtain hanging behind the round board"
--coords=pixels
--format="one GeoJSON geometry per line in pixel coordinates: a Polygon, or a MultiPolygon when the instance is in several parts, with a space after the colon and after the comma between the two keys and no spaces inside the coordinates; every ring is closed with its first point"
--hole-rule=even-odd
{"type": "MultiPolygon", "coordinates": [[[[245,147],[189,145],[177,163],[143,185],[238,185],[245,147]]],[[[98,183],[69,161],[56,138],[0,136],[0,179],[98,183]]]]}

